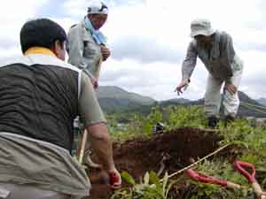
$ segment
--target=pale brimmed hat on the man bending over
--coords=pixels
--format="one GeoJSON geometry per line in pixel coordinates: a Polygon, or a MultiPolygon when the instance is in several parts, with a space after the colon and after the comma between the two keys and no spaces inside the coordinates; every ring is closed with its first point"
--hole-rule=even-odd
{"type": "Polygon", "coordinates": [[[210,21],[208,19],[194,19],[191,24],[191,36],[205,35],[209,36],[215,33],[215,30],[211,27],[210,21]]]}

